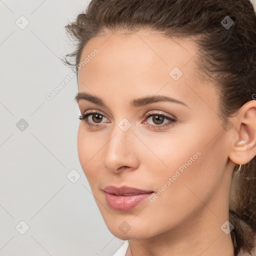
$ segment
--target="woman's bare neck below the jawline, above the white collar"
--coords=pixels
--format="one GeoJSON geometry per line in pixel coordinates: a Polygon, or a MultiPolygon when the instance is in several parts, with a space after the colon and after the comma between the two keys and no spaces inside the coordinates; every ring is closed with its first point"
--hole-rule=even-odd
{"type": "MultiPolygon", "coordinates": [[[[207,207],[202,204],[200,212],[194,212],[189,219],[164,233],[129,239],[126,256],[233,256],[231,235],[220,228],[228,220],[228,209],[223,214],[223,202],[218,207],[215,203],[209,202],[207,207]],[[214,213],[210,209],[214,209],[214,213]]],[[[222,228],[226,231],[229,227],[222,228]]]]}

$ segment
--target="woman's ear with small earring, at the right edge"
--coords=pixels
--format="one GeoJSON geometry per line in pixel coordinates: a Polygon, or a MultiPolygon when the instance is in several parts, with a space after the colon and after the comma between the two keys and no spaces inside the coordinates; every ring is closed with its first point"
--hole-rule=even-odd
{"type": "Polygon", "coordinates": [[[229,159],[236,164],[245,164],[256,155],[256,100],[243,104],[238,114],[230,118],[234,132],[229,159]]]}

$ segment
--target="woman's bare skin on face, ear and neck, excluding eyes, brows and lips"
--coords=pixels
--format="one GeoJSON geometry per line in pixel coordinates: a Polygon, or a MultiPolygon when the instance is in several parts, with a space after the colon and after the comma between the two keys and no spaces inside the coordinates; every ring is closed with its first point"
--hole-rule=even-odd
{"type": "MultiPolygon", "coordinates": [[[[244,104],[230,118],[226,130],[217,114],[218,94],[213,83],[202,81],[196,69],[197,50],[192,40],[166,38],[148,29],[124,33],[105,31],[84,46],[81,60],[99,52],[78,71],[79,92],[98,96],[107,107],[79,100],[81,113],[99,111],[100,127],[81,120],[77,134],[78,157],[93,196],[110,232],[129,239],[126,256],[233,255],[230,234],[221,230],[228,220],[228,201],[235,164],[244,164],[256,152],[256,103],[244,104]],[[174,80],[170,70],[182,76],[174,80]],[[154,102],[131,107],[129,101],[166,95],[183,101],[154,102]],[[163,125],[145,114],[176,117],[163,125]],[[126,118],[127,131],[118,123],[126,118]],[[246,143],[239,145],[239,141],[246,143]],[[179,166],[201,154],[155,199],[132,210],[111,209],[102,188],[132,186],[157,192],[179,166]],[[118,226],[126,221],[130,229],[118,226]]],[[[88,121],[97,124],[90,115],[88,121]]]]}

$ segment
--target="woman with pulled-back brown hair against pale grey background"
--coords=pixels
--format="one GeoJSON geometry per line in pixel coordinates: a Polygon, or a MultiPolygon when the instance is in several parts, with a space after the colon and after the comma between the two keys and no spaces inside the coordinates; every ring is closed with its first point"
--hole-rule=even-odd
{"type": "Polygon", "coordinates": [[[255,255],[252,3],[92,0],[66,29],[78,156],[115,255],[255,255]]]}

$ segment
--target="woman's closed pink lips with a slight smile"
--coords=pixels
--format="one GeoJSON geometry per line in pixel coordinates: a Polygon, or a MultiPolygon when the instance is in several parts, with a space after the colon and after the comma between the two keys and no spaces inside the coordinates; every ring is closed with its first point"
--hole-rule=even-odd
{"type": "Polygon", "coordinates": [[[106,186],[102,189],[108,206],[114,210],[130,210],[142,203],[153,191],[128,186],[106,186]]]}

